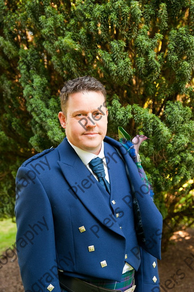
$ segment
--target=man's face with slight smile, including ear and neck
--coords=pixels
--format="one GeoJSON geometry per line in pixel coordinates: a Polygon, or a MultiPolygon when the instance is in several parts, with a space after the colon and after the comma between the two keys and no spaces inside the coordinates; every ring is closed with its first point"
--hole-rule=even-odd
{"type": "Polygon", "coordinates": [[[108,111],[100,92],[77,92],[69,96],[66,114],[59,120],[68,140],[82,150],[99,154],[107,131],[108,111]]]}

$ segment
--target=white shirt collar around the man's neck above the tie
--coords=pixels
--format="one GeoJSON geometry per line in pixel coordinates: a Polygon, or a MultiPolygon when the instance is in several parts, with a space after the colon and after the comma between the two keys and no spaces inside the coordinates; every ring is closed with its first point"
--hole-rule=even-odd
{"type": "Polygon", "coordinates": [[[70,143],[71,147],[73,147],[73,149],[75,150],[81,161],[84,163],[84,165],[87,165],[92,159],[96,157],[100,157],[102,159],[104,158],[104,141],[102,141],[101,150],[98,155],[78,148],[77,146],[73,145],[69,140],[68,142],[70,143]]]}

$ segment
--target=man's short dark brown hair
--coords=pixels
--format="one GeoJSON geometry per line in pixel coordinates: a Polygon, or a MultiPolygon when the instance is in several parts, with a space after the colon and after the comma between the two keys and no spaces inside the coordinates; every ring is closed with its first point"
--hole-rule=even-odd
{"type": "Polygon", "coordinates": [[[104,100],[106,102],[106,90],[100,81],[90,76],[78,77],[67,81],[60,92],[61,109],[65,114],[69,96],[72,93],[83,91],[100,92],[104,96],[104,100]]]}

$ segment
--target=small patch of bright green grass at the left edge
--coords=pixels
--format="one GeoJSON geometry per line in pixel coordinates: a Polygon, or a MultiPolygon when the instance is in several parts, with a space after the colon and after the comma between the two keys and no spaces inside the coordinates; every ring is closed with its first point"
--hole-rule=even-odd
{"type": "Polygon", "coordinates": [[[4,252],[15,242],[16,223],[12,222],[12,218],[0,221],[0,252],[4,252]]]}

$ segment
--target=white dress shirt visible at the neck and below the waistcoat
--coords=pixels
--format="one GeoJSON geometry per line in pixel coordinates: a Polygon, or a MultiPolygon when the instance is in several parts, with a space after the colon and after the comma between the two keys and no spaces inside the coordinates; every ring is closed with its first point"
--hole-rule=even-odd
{"type": "MultiPolygon", "coordinates": [[[[67,139],[68,140],[68,139],[67,139]]],[[[102,145],[101,145],[101,150],[100,153],[98,155],[93,154],[91,152],[87,152],[84,151],[80,148],[78,148],[77,146],[73,145],[69,140],[68,142],[70,143],[70,145],[73,147],[73,149],[75,150],[75,152],[77,153],[77,155],[79,156],[79,158],[81,159],[81,161],[83,162],[83,164],[88,168],[88,170],[94,175],[94,177],[96,178],[96,180],[98,181],[98,178],[96,176],[95,173],[93,173],[93,171],[91,170],[91,168],[89,167],[89,162],[96,158],[96,157],[100,157],[103,160],[103,165],[104,165],[104,171],[105,171],[105,178],[106,180],[110,183],[109,180],[109,175],[108,175],[108,168],[107,168],[107,164],[106,164],[106,158],[104,156],[104,142],[102,141],[102,145]]],[[[128,263],[125,262],[125,265],[123,267],[123,272],[125,273],[127,271],[132,270],[133,267],[131,265],[129,265],[128,263]]]]}

